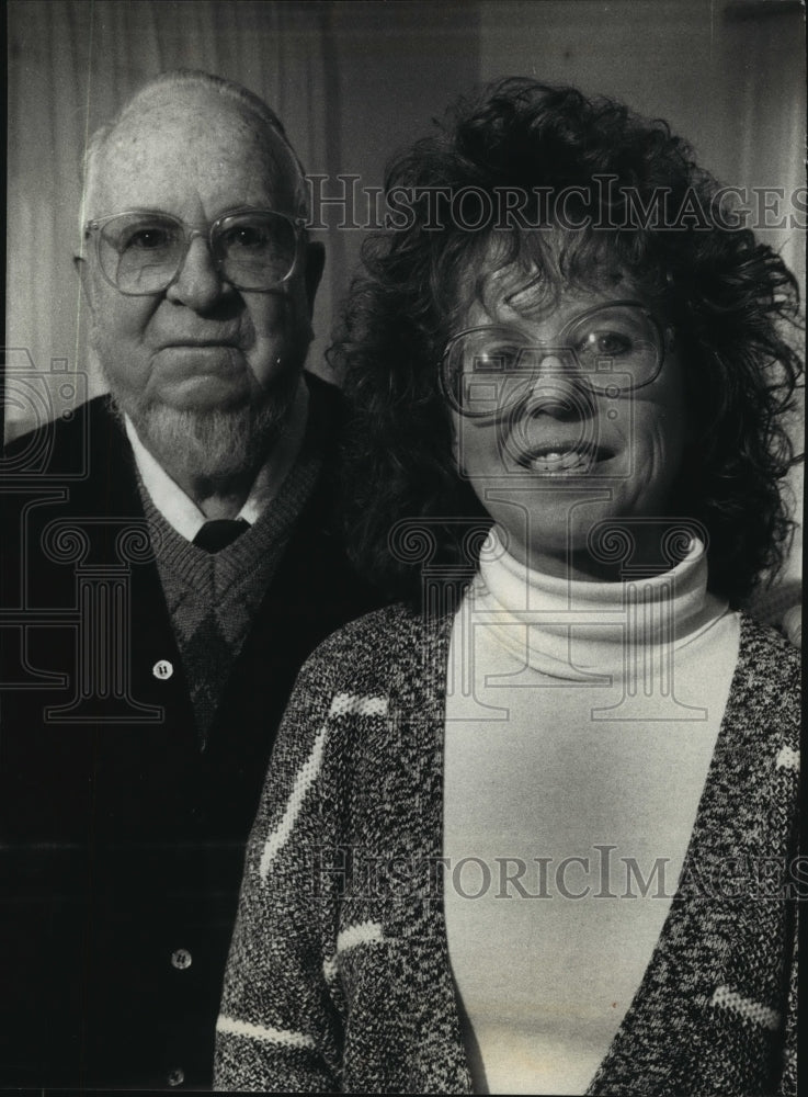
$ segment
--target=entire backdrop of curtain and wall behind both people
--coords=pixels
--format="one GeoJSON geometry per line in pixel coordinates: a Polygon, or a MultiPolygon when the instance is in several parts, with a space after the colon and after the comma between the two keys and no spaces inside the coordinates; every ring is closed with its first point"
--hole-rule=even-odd
{"type": "MultiPolygon", "coordinates": [[[[207,68],[263,95],[328,188],[339,172],[380,186],[392,152],[458,93],[503,75],[573,83],[664,117],[727,183],[805,184],[794,0],[11,0],[8,18],[7,347],[12,367],[24,374],[30,361],[35,374],[9,374],[8,436],[55,414],[66,374],[87,371],[89,395],[104,388],[71,263],[81,146],[166,68],[207,68]]],[[[363,234],[337,228],[335,213],[326,219],[309,364],[329,376],[323,351],[363,234]]],[[[805,286],[805,234],[762,235],[805,286]]],[[[800,471],[793,484],[801,491],[800,471]]]]}

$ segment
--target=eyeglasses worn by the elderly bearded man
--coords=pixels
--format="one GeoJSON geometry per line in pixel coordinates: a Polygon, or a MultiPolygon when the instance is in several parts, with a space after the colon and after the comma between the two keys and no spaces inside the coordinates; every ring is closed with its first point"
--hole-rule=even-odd
{"type": "Polygon", "coordinates": [[[237,290],[268,292],[293,274],[304,220],[272,210],[247,210],[193,228],[168,213],[132,210],[89,220],[101,272],[133,297],[161,293],[179,276],[195,236],[207,239],[216,270],[237,290]]]}

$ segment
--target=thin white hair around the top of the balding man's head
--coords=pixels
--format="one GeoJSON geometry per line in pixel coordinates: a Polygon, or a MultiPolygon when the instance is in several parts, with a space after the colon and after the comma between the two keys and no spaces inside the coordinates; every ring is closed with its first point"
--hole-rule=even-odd
{"type": "Polygon", "coordinates": [[[307,215],[308,190],[306,186],[305,169],[300,163],[292,143],[286,136],[283,123],[275,112],[266,105],[263,99],[255,95],[247,88],[243,88],[240,83],[236,83],[235,80],[226,80],[224,77],[214,76],[213,73],[204,72],[201,69],[172,69],[168,72],[161,72],[159,76],[155,77],[153,80],[149,80],[148,83],[145,83],[130,99],[124,103],[114,117],[99,126],[99,128],[90,137],[84,151],[81,172],[82,197],[79,220],[80,237],[83,237],[84,235],[84,226],[87,224],[88,211],[90,208],[90,199],[92,196],[93,186],[95,185],[98,163],[106,142],[122,122],[130,115],[137,114],[140,110],[147,106],[150,99],[153,99],[156,95],[161,94],[167,89],[171,88],[197,88],[221,95],[223,99],[237,104],[247,114],[254,118],[258,131],[263,132],[266,135],[271,135],[272,138],[280,137],[292,155],[292,159],[296,168],[297,179],[295,180],[294,186],[294,201],[297,207],[296,212],[304,217],[307,215]]]}

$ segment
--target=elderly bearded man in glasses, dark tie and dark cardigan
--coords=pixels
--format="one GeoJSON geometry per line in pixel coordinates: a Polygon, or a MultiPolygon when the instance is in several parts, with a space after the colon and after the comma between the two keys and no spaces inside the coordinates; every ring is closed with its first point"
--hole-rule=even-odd
{"type": "Polygon", "coordinates": [[[111,396],[7,456],[0,1085],[209,1087],[276,724],[372,604],[333,514],[339,394],[303,372],[305,194],[275,115],[205,73],[90,143],[111,396]]]}

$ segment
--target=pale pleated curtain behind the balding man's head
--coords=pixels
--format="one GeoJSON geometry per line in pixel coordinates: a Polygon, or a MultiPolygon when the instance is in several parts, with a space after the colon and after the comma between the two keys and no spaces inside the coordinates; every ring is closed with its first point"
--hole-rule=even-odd
{"type": "MultiPolygon", "coordinates": [[[[58,414],[66,402],[103,391],[88,353],[71,258],[88,136],[158,72],[201,68],[266,100],[308,170],[337,172],[339,129],[327,94],[329,7],[305,0],[9,2],[7,438],[58,414]]],[[[332,284],[344,276],[330,251],[309,359],[321,371],[332,284]]]]}

